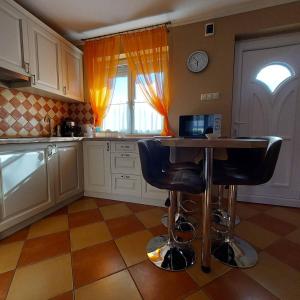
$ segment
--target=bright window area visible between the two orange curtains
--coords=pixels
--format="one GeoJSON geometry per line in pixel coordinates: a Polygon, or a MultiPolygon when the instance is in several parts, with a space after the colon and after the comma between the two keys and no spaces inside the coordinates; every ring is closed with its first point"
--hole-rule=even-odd
{"type": "Polygon", "coordinates": [[[118,67],[114,94],[103,121],[103,130],[159,134],[162,128],[163,117],[148,104],[139,84],[123,62],[118,67]]]}

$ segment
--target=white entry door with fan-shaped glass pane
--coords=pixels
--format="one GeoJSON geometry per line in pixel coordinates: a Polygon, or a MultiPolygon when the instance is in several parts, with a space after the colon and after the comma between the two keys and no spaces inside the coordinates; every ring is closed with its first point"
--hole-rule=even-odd
{"type": "Polygon", "coordinates": [[[237,44],[233,135],[283,138],[273,178],[238,199],[300,206],[300,34],[237,44]]]}

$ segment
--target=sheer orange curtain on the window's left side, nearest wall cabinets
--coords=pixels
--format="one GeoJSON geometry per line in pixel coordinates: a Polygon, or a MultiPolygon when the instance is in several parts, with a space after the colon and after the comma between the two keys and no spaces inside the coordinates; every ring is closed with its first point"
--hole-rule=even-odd
{"type": "Polygon", "coordinates": [[[84,44],[84,63],[89,101],[101,126],[113,95],[120,55],[120,36],[84,44]]]}

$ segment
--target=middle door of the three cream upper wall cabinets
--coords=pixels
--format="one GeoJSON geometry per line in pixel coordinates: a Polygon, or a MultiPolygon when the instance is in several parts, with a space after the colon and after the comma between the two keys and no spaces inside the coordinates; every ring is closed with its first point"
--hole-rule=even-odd
{"type": "Polygon", "coordinates": [[[60,40],[30,22],[29,50],[33,86],[62,95],[60,40]]]}

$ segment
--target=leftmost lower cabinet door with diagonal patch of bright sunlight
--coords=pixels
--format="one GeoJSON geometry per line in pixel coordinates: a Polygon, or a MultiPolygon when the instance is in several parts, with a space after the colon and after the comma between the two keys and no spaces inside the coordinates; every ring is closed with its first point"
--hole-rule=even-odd
{"type": "Polygon", "coordinates": [[[0,170],[0,231],[53,205],[53,165],[46,146],[1,152],[0,170]]]}

